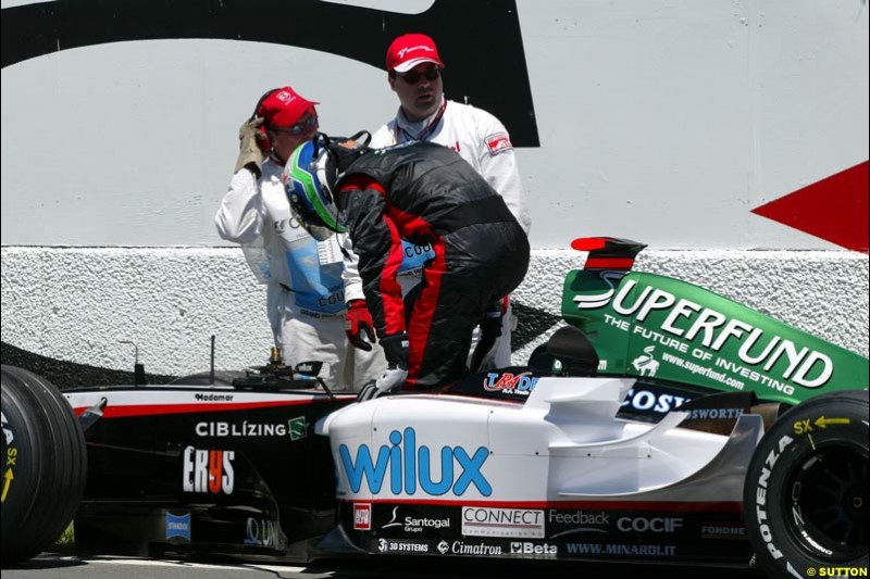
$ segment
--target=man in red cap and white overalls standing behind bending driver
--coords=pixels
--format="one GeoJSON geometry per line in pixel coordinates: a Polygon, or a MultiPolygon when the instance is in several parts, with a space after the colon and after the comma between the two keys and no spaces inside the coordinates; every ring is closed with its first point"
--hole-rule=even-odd
{"type": "MultiPolygon", "coordinates": [[[[452,149],[505,199],[529,235],[531,221],[525,191],[510,136],[492,114],[444,96],[445,64],[435,41],[424,34],[399,36],[387,49],[386,64],[387,80],[399,98],[399,110],[373,135],[371,147],[430,141],[452,149]]],[[[405,254],[399,280],[407,293],[419,284],[421,267],[434,253],[432,248],[406,243],[405,254]]],[[[356,264],[349,263],[347,269],[346,277],[353,279],[356,264]]],[[[348,300],[362,297],[355,287],[348,284],[348,300]]],[[[473,372],[511,365],[510,333],[517,318],[507,298],[498,310],[501,316],[487,317],[474,332],[468,360],[473,372]]]]}

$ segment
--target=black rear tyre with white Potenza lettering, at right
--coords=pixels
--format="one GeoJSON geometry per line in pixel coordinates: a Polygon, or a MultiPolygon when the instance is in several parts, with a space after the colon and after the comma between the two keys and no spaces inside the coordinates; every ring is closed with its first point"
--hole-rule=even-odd
{"type": "Polygon", "coordinates": [[[767,572],[816,578],[867,569],[868,457],[867,390],[819,395],[776,420],[744,487],[747,533],[767,572]]]}

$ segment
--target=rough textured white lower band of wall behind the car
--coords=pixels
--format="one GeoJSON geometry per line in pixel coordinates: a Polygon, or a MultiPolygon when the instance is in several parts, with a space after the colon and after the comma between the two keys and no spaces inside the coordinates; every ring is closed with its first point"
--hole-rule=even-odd
{"type": "MultiPolygon", "coordinates": [[[[536,250],[514,295],[522,364],[561,324],[562,281],[585,254],[536,250]]],[[[149,373],[264,364],[263,287],[237,249],[3,248],[3,342],[53,360],[149,373]]],[[[680,277],[868,355],[868,262],[825,251],[645,251],[636,268],[680,277]],[[836,297],[832,300],[831,297],[836,297]]]]}

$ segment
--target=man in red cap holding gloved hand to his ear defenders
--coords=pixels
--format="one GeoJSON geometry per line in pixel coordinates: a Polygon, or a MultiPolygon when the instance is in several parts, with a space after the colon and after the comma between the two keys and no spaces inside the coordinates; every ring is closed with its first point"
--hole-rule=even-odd
{"type": "MultiPolygon", "coordinates": [[[[263,95],[239,129],[235,174],[214,221],[223,239],[241,244],[266,285],[269,322],[284,364],[314,363],[327,386],[359,390],[386,361],[380,347],[356,349],[345,333],[344,236],[316,241],[293,217],[282,181],[293,151],[318,133],[315,104],[291,87],[263,95]]],[[[371,323],[364,324],[361,331],[373,337],[371,323]]]]}

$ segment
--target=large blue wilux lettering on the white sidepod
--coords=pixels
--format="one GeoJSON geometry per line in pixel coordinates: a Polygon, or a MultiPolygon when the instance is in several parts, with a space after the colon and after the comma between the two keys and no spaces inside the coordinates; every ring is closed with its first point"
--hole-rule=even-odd
{"type": "Polygon", "coordinates": [[[369,492],[378,494],[387,478],[387,470],[389,491],[393,494],[415,494],[419,488],[423,493],[433,496],[448,492],[461,496],[472,486],[483,496],[493,493],[493,487],[481,473],[489,457],[489,449],[486,446],[480,446],[471,456],[462,446],[442,446],[440,461],[433,462],[428,446],[417,448],[417,432],[413,428],[406,428],[403,435],[398,430],[391,431],[389,442],[390,445],[381,445],[374,460],[368,444],[357,448],[356,458],[350,456],[347,444],[338,448],[340,464],[353,493],[360,492],[365,481],[369,492]],[[435,469],[439,473],[433,476],[435,469]]]}

